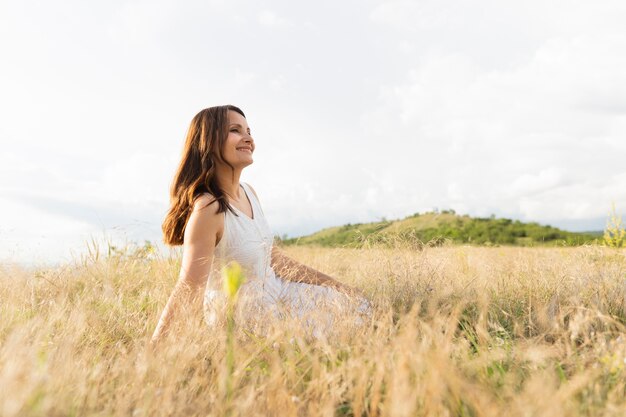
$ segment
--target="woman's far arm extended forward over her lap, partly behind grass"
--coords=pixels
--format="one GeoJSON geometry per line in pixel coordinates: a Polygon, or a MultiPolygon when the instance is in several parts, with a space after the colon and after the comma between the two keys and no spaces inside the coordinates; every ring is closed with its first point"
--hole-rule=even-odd
{"type": "Polygon", "coordinates": [[[335,288],[348,295],[361,295],[361,292],[356,288],[342,284],[323,272],[291,259],[276,246],[272,247],[272,268],[276,275],[288,281],[323,285],[335,288]]]}

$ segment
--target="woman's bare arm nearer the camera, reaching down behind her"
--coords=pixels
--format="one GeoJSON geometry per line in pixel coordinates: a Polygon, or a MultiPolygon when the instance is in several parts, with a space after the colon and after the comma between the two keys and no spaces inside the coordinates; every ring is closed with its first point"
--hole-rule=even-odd
{"type": "Polygon", "coordinates": [[[203,195],[194,204],[185,227],[183,258],[178,281],[152,335],[156,345],[168,332],[172,321],[181,313],[195,316],[201,307],[202,293],[213,262],[217,234],[223,230],[224,217],[217,213],[218,204],[203,195]]]}

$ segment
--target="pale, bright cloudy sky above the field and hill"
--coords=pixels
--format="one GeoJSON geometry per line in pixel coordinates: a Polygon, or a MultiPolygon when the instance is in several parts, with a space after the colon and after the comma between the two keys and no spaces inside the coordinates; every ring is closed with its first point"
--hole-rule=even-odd
{"type": "Polygon", "coordinates": [[[276,235],[453,209],[626,212],[622,0],[0,0],[0,261],[161,241],[185,133],[234,104],[276,235]]]}

